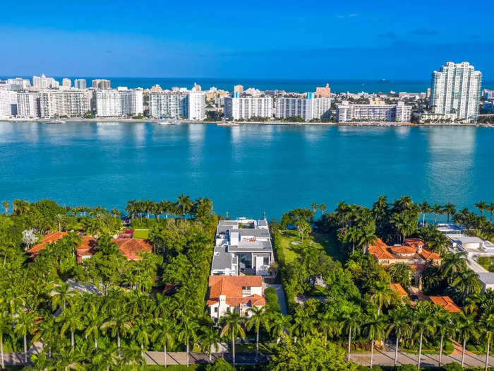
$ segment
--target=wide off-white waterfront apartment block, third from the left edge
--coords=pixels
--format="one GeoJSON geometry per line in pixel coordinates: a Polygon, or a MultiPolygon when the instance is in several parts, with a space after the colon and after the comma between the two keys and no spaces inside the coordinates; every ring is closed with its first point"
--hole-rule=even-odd
{"type": "Polygon", "coordinates": [[[89,90],[40,91],[40,117],[81,117],[91,108],[89,90]]]}

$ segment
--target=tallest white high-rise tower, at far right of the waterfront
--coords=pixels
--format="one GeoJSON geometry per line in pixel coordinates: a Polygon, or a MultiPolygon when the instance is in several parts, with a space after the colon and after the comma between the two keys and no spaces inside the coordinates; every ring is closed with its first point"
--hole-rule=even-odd
{"type": "Polygon", "coordinates": [[[469,62],[447,62],[432,73],[430,106],[435,114],[456,114],[461,122],[476,122],[481,97],[481,71],[469,62]]]}

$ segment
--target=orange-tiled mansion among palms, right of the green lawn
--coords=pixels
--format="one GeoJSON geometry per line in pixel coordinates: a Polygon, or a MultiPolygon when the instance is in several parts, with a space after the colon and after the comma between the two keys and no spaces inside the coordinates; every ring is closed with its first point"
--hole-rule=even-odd
{"type": "Polygon", "coordinates": [[[409,264],[414,269],[415,284],[421,286],[422,271],[428,261],[435,265],[441,264],[439,254],[430,251],[424,246],[420,238],[406,238],[403,245],[388,246],[380,238],[368,245],[366,252],[373,255],[375,260],[385,268],[391,264],[409,264]]]}

